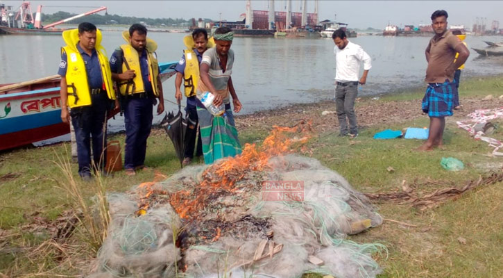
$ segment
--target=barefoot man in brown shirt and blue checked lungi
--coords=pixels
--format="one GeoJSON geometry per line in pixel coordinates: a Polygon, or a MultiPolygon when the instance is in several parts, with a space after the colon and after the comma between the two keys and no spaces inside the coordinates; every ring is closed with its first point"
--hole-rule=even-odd
{"type": "Polygon", "coordinates": [[[420,151],[430,151],[442,145],[445,117],[452,116],[452,97],[456,92],[454,72],[468,59],[470,52],[466,46],[447,30],[447,12],[436,10],[432,14],[432,27],[435,35],[426,48],[425,81],[428,83],[423,103],[423,112],[429,116],[429,134],[420,151]],[[459,57],[454,62],[456,53],[459,57]]]}

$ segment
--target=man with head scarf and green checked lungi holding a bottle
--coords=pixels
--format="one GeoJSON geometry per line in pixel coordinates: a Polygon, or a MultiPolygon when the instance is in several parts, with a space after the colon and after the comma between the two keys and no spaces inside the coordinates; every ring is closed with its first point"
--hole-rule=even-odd
{"type": "Polygon", "coordinates": [[[230,77],[234,64],[234,51],[230,49],[234,33],[230,28],[220,27],[215,30],[213,38],[215,47],[205,51],[201,60],[198,97],[210,92],[214,95],[214,106],[219,107],[223,104],[225,113],[212,115],[206,108],[200,106],[197,108],[206,164],[226,156],[241,154],[241,145],[230,106],[232,97],[234,112],[238,113],[242,108],[230,77]]]}

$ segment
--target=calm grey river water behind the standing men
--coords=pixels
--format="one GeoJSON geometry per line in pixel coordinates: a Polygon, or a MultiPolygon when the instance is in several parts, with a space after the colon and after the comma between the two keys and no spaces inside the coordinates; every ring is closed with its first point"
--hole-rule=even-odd
{"type": "MultiPolygon", "coordinates": [[[[186,33],[148,33],[159,45],[162,62],[180,60],[186,33]]],[[[484,48],[486,41],[500,42],[502,37],[468,36],[468,47],[484,48]]],[[[372,57],[367,84],[359,95],[400,93],[424,85],[427,66],[426,37],[383,37],[361,35],[350,38],[372,57]]],[[[112,51],[123,44],[121,32],[103,31],[103,46],[112,51]]],[[[15,83],[56,74],[60,62],[59,35],[0,35],[0,83],[15,83]]],[[[328,38],[235,38],[235,65],[232,81],[244,105],[239,114],[253,113],[295,103],[331,100],[334,96],[334,42],[328,38]]],[[[502,58],[480,58],[475,51],[463,70],[467,76],[503,73],[502,58]]],[[[174,78],[163,83],[164,98],[174,101],[174,78]]],[[[184,100],[185,102],[185,100],[184,100]]],[[[167,111],[176,105],[166,103],[167,111]]],[[[154,122],[162,117],[156,116],[154,122]]],[[[110,122],[112,131],[123,129],[123,118],[110,122]]]]}

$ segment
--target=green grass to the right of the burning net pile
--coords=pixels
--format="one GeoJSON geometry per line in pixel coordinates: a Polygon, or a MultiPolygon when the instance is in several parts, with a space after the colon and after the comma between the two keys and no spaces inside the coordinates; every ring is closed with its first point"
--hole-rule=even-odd
{"type": "MultiPolygon", "coordinates": [[[[423,126],[423,120],[404,122],[402,126],[423,126]]],[[[418,190],[433,192],[438,188],[463,186],[471,179],[484,174],[486,167],[476,167],[501,158],[488,158],[486,143],[475,141],[468,133],[447,125],[445,143],[447,149],[439,152],[415,152],[418,140],[373,140],[382,130],[375,126],[362,131],[357,140],[334,137],[321,138],[314,156],[336,170],[362,192],[386,193],[400,190],[403,181],[425,183],[418,190]],[[461,172],[447,172],[440,161],[442,157],[454,157],[467,166],[461,172]],[[394,172],[386,170],[393,167],[394,172]],[[446,183],[438,186],[427,180],[446,183]]],[[[497,134],[495,134],[497,136],[497,134]]],[[[417,227],[407,227],[384,222],[359,236],[357,242],[380,241],[389,248],[389,260],[380,261],[384,274],[380,277],[502,277],[498,267],[503,259],[503,224],[500,213],[503,205],[502,183],[481,188],[463,195],[455,202],[447,202],[439,208],[419,212],[407,205],[380,204],[380,213],[417,227]],[[465,238],[466,244],[458,238],[465,238]]]]}

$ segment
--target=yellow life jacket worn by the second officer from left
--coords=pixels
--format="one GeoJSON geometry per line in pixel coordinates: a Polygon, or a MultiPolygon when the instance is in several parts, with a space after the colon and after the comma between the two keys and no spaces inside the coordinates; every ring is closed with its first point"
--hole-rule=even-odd
{"type": "MultiPolygon", "coordinates": [[[[122,38],[126,42],[130,42],[129,31],[123,31],[122,38]]],[[[123,53],[122,72],[126,70],[135,70],[135,77],[132,81],[120,83],[119,90],[122,95],[133,95],[140,92],[145,92],[145,84],[142,78],[142,67],[139,63],[138,51],[131,46],[130,43],[121,45],[123,53]]],[[[157,43],[150,38],[146,39],[147,63],[148,63],[148,80],[151,81],[152,90],[155,97],[159,97],[159,88],[157,88],[157,77],[159,76],[159,64],[157,63],[157,56],[155,50],[157,43]]]]}

